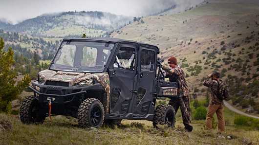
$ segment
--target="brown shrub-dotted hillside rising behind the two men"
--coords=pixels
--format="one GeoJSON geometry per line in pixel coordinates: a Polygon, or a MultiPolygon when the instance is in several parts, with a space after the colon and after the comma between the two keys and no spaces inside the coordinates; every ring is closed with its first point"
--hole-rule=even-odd
{"type": "Polygon", "coordinates": [[[204,77],[218,70],[233,104],[259,111],[258,0],[208,0],[188,11],[142,19],[111,36],[157,45],[164,59],[176,56],[198,98],[206,95],[204,77]]]}

